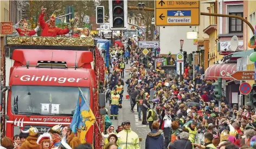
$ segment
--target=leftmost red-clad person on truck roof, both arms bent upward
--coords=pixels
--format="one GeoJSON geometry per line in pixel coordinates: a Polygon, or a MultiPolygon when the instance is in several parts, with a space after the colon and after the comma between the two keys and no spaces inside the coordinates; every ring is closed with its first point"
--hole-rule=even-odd
{"type": "Polygon", "coordinates": [[[28,22],[26,22],[24,19],[22,19],[20,22],[15,24],[15,29],[18,32],[18,35],[20,36],[33,36],[36,34],[39,28],[40,28],[40,22],[37,22],[37,26],[34,30],[28,30],[28,22]],[[22,25],[21,29],[20,29],[20,25],[22,25]]]}

